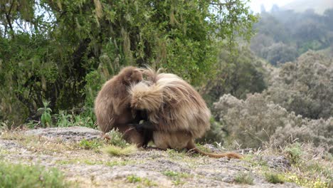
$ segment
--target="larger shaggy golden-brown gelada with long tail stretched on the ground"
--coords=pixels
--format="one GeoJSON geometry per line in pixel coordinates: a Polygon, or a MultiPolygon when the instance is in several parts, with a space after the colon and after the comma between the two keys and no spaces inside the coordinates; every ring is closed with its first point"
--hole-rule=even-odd
{"type": "MultiPolygon", "coordinates": [[[[185,80],[170,73],[144,71],[150,84],[132,85],[131,107],[147,110],[154,144],[163,150],[188,149],[209,157],[240,158],[234,152],[213,154],[196,148],[194,140],[210,129],[210,110],[201,95],[185,80]]],[[[149,128],[149,127],[147,127],[149,128]]]]}

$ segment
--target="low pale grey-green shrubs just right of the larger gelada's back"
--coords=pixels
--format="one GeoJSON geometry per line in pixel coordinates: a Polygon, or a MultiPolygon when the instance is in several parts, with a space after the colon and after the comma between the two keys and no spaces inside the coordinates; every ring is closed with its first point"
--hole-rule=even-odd
{"type": "Polygon", "coordinates": [[[213,114],[228,135],[243,148],[274,146],[285,142],[313,142],[333,152],[333,118],[309,120],[289,113],[285,108],[268,101],[263,94],[250,94],[246,100],[223,95],[214,103],[213,114]]]}

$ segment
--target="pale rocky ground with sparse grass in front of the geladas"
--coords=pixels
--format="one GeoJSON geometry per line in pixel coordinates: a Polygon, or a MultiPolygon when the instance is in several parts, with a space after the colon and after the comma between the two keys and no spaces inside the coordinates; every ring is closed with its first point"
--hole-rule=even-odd
{"type": "Polygon", "coordinates": [[[98,147],[80,145],[81,140],[99,138],[98,130],[87,127],[2,132],[0,159],[56,167],[78,187],[298,187],[270,183],[258,167],[265,162],[269,169],[283,171],[290,167],[283,156],[227,160],[140,149],[126,157],[112,157],[98,147]],[[244,174],[253,180],[242,182],[244,174]]]}

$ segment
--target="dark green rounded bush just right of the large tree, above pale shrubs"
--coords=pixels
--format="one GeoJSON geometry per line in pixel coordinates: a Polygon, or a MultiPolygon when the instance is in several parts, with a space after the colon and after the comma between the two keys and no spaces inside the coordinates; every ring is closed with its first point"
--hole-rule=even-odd
{"type": "Polygon", "coordinates": [[[200,92],[208,105],[227,93],[237,98],[245,98],[248,93],[260,93],[266,88],[268,77],[264,65],[248,47],[238,48],[236,54],[223,51],[219,56],[216,77],[208,80],[200,92]]]}

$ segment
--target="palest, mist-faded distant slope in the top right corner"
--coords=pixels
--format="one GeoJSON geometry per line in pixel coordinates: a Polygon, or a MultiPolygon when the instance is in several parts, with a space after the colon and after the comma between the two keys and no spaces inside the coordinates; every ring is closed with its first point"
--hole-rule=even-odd
{"type": "Polygon", "coordinates": [[[293,9],[302,12],[314,9],[317,14],[323,14],[326,9],[333,8],[332,0],[295,0],[281,7],[282,9],[293,9]]]}

